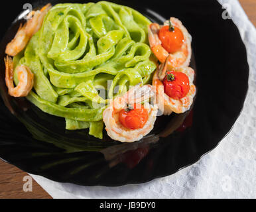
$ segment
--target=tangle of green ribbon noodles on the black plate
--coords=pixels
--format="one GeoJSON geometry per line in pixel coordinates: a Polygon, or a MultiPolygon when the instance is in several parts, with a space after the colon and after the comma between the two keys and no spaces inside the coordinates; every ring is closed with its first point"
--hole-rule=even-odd
{"type": "Polygon", "coordinates": [[[89,128],[89,134],[102,138],[109,99],[129,85],[149,83],[156,68],[150,60],[149,24],[134,9],[107,1],[55,5],[14,58],[16,66],[25,64],[34,74],[27,99],[45,113],[64,117],[66,129],[89,128]],[[108,91],[106,98],[99,89],[108,91]]]}

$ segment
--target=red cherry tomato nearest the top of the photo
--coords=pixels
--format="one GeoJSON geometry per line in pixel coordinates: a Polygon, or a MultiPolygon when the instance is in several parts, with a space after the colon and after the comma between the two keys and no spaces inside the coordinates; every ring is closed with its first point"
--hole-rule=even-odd
{"type": "Polygon", "coordinates": [[[170,54],[180,50],[184,42],[183,33],[176,26],[174,30],[169,30],[169,26],[162,26],[159,30],[159,39],[162,42],[162,47],[170,54]]]}

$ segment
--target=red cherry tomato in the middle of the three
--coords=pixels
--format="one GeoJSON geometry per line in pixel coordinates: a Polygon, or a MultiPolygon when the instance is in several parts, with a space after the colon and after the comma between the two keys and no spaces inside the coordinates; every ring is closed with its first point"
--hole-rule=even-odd
{"type": "Polygon", "coordinates": [[[164,84],[164,93],[172,99],[185,97],[190,89],[188,76],[182,72],[166,72],[162,83],[164,84]]]}

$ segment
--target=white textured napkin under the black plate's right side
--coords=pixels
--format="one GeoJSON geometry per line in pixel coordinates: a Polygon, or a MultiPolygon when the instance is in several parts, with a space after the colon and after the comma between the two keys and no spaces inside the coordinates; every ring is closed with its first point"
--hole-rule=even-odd
{"type": "Polygon", "coordinates": [[[250,68],[245,105],[231,132],[196,164],[145,184],[89,187],[31,174],[53,198],[256,198],[256,30],[237,0],[218,1],[239,28],[250,68]]]}

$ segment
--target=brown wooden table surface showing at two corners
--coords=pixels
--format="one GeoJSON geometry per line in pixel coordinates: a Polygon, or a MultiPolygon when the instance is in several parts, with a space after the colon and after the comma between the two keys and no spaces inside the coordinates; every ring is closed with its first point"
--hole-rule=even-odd
{"type": "MultiPolygon", "coordinates": [[[[239,0],[245,13],[256,26],[256,0],[239,0]]],[[[25,176],[29,176],[26,172],[19,168],[7,164],[0,160],[0,199],[3,198],[30,198],[30,199],[50,199],[52,198],[40,185],[32,180],[32,191],[23,191],[23,181],[25,176]]]]}

